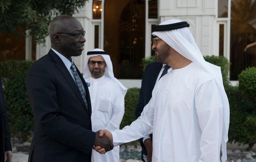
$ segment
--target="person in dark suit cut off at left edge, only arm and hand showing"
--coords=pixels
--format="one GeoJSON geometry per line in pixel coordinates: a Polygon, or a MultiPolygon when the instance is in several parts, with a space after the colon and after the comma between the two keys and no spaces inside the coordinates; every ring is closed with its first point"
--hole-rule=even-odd
{"type": "Polygon", "coordinates": [[[9,126],[6,115],[6,108],[4,103],[4,92],[2,79],[0,77],[0,162],[12,161],[12,144],[9,133],[9,126]]]}

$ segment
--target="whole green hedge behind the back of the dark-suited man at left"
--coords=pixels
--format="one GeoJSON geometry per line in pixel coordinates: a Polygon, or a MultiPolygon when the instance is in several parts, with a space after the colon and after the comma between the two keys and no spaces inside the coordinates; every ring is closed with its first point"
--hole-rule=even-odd
{"type": "Polygon", "coordinates": [[[0,62],[10,133],[23,141],[27,141],[33,131],[33,113],[26,91],[26,75],[32,64],[32,61],[17,60],[0,62]]]}

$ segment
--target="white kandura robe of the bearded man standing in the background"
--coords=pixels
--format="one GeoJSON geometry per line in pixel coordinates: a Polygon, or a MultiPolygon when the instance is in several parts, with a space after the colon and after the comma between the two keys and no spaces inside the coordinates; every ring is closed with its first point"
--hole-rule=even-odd
{"type": "MultiPolygon", "coordinates": [[[[99,79],[85,79],[92,103],[92,131],[100,129],[115,130],[124,116],[124,95],[120,86],[103,75],[99,79]]],[[[119,146],[101,155],[92,150],[92,162],[119,162],[119,146]]]]}

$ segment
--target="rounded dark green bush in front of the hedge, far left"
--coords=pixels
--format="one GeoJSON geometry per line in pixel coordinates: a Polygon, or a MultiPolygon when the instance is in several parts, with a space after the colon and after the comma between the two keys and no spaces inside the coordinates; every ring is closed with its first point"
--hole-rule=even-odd
{"type": "Polygon", "coordinates": [[[33,112],[26,91],[27,72],[12,74],[4,85],[11,135],[27,141],[33,131],[33,112]]]}

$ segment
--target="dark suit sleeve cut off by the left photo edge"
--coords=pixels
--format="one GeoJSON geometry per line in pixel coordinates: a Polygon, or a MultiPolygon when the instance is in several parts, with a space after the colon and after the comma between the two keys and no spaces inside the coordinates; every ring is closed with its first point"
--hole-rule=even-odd
{"type": "Polygon", "coordinates": [[[3,101],[4,150],[12,151],[10,130],[9,130],[9,125],[8,125],[8,120],[7,120],[6,107],[5,107],[5,102],[4,102],[4,92],[3,92],[3,85],[2,85],[1,78],[0,78],[0,95],[1,95],[2,101],[3,101]]]}

